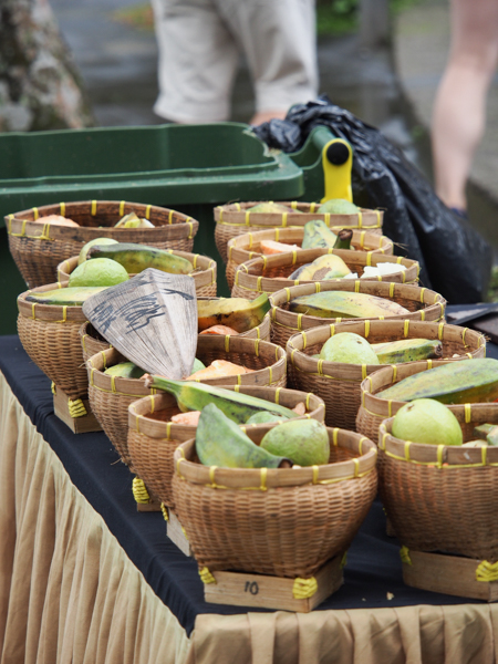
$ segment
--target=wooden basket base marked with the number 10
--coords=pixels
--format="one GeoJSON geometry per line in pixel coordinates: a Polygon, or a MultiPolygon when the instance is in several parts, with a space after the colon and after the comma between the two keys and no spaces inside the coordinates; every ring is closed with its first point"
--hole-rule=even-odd
{"type": "Polygon", "coordinates": [[[335,556],[314,574],[318,590],[311,598],[293,596],[294,579],[239,572],[212,572],[216,583],[205,584],[204,599],[211,604],[309,613],[343,584],[341,561],[342,554],[335,556]]]}

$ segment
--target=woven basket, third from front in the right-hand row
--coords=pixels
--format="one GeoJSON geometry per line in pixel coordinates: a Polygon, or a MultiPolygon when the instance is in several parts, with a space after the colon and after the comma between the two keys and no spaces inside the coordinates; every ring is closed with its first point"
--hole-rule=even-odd
{"type": "MultiPolygon", "coordinates": [[[[443,344],[443,357],[449,361],[485,357],[486,355],[486,339],[483,334],[457,325],[445,325],[445,323],[411,320],[406,322],[363,321],[361,323],[321,325],[294,334],[287,342],[290,386],[313,392],[323,398],[326,404],[325,422],[328,426],[340,426],[352,430],[356,428],[356,415],[362,398],[362,381],[365,380],[365,376],[378,372],[386,365],[345,364],[311,357],[321,351],[325,341],[340,332],[359,334],[367,339],[370,343],[400,339],[439,339],[443,344]],[[453,357],[454,354],[458,354],[458,356],[453,357]]],[[[398,366],[411,364],[413,363],[403,363],[398,366]]],[[[363,429],[362,433],[367,435],[363,429]]],[[[370,435],[372,433],[369,430],[369,437],[376,440],[376,437],[370,435]]]]}

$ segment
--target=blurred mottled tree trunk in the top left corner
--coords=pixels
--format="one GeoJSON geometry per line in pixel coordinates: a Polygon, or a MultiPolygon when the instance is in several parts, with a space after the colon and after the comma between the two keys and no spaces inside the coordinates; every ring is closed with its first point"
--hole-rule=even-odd
{"type": "Polygon", "coordinates": [[[48,0],[0,0],[0,132],[93,124],[48,0]]]}

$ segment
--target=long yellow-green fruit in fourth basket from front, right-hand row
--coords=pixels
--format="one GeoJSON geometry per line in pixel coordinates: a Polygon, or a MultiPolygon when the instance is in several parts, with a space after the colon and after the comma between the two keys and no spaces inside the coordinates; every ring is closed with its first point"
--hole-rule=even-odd
{"type": "Polygon", "coordinates": [[[347,291],[323,291],[291,300],[289,310],[319,318],[380,318],[409,313],[384,298],[347,291]]]}

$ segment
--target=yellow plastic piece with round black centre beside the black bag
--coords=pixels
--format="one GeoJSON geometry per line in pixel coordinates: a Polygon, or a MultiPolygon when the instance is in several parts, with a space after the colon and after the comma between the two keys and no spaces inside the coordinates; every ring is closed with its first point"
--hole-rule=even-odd
{"type": "Polygon", "coordinates": [[[353,167],[353,151],[347,141],[343,138],[329,141],[322,151],[322,166],[325,195],[321,203],[325,203],[331,198],[344,198],[352,203],[351,169],[353,167]]]}

